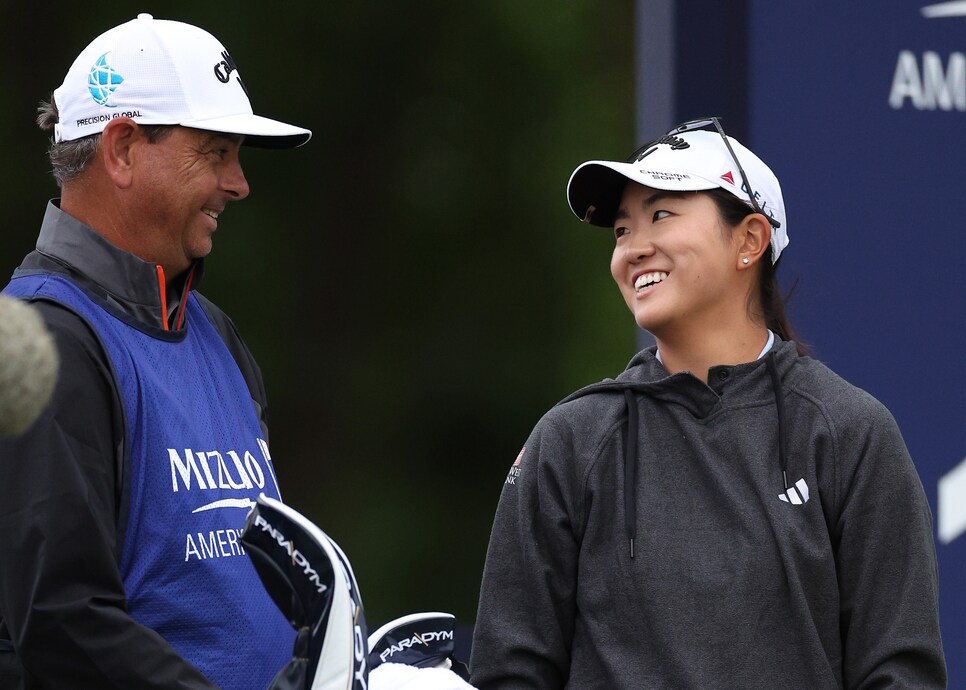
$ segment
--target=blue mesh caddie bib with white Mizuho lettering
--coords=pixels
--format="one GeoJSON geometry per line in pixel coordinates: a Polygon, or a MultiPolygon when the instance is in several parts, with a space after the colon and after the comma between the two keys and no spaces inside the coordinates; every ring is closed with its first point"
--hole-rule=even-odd
{"type": "MultiPolygon", "coordinates": [[[[187,328],[151,329],[51,274],[5,293],[58,302],[100,338],[125,412],[128,611],[225,690],[258,690],[292,656],[294,631],[239,533],[260,492],[280,498],[251,394],[194,295],[187,328]]],[[[113,459],[105,458],[105,462],[113,459]]]]}

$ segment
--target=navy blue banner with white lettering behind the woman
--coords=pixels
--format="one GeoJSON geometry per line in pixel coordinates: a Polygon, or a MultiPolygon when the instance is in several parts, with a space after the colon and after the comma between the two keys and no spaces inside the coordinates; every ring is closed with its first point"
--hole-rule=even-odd
{"type": "Polygon", "coordinates": [[[756,0],[748,20],[747,128],[782,183],[792,320],[899,422],[966,687],[966,2],[756,0]]]}

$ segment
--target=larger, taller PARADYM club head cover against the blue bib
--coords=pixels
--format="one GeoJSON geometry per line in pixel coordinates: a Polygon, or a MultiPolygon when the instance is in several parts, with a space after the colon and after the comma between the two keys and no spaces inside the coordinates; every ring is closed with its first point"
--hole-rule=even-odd
{"type": "Polygon", "coordinates": [[[272,601],[296,630],[268,690],[366,690],[368,646],[349,559],[311,520],[265,495],[241,535],[272,601]]]}

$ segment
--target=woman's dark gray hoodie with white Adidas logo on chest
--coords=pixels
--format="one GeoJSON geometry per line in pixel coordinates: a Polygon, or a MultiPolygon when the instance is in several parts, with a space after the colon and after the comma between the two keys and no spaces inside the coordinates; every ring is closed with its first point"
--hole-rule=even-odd
{"type": "Polygon", "coordinates": [[[932,516],[888,410],[789,342],[708,378],[652,348],[540,420],[493,525],[473,683],[946,687],[932,516]]]}

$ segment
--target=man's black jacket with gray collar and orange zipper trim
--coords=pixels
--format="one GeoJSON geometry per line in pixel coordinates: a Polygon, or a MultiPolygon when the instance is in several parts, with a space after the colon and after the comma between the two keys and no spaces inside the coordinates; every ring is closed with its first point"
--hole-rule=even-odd
{"type": "MultiPolygon", "coordinates": [[[[126,320],[174,329],[202,265],[162,285],[154,264],[117,249],[54,201],[36,251],[17,271],[64,275],[126,320]]],[[[229,318],[195,296],[237,362],[267,440],[258,365],[229,318]]],[[[212,688],[127,614],[117,564],[128,485],[111,366],[79,316],[52,302],[34,306],[54,336],[61,366],[37,422],[22,436],[0,440],[0,688],[212,688]]]]}

